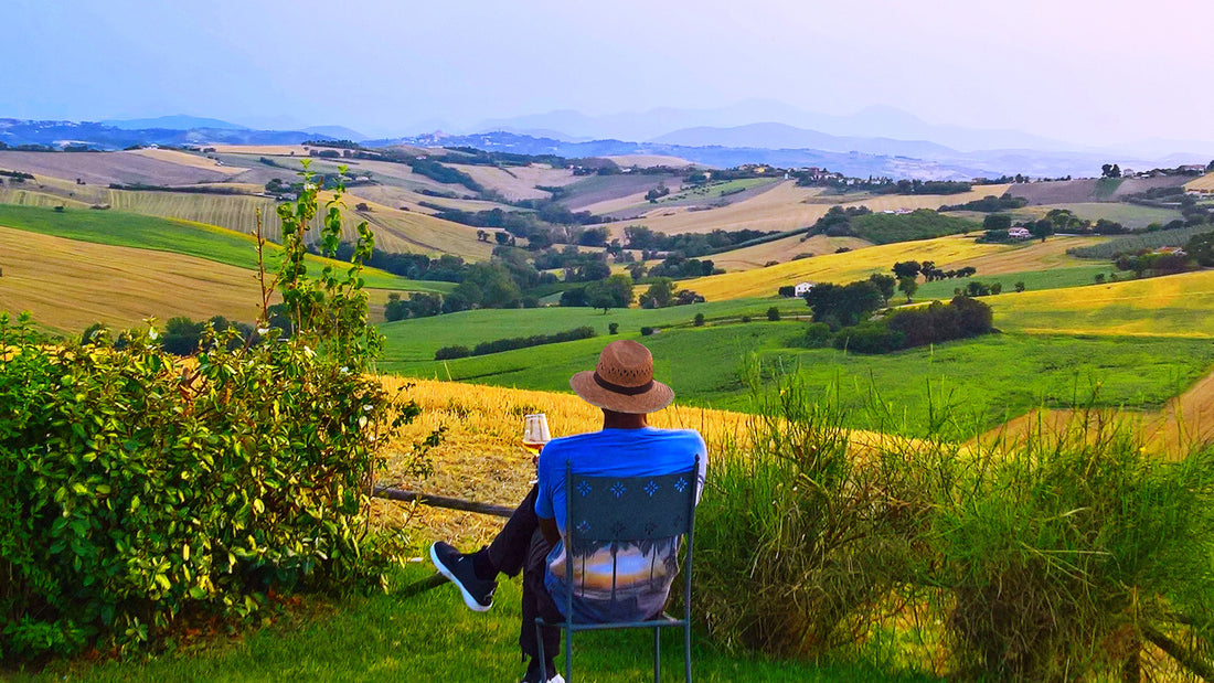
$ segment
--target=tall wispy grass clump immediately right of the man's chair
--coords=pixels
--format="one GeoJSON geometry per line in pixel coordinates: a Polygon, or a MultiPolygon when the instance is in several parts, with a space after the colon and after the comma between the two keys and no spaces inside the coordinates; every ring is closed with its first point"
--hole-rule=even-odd
{"type": "Polygon", "coordinates": [[[784,380],[745,442],[714,460],[696,594],[719,642],[785,656],[846,649],[920,562],[919,479],[934,468],[913,467],[906,449],[852,446],[843,425],[832,402],[784,380]]]}

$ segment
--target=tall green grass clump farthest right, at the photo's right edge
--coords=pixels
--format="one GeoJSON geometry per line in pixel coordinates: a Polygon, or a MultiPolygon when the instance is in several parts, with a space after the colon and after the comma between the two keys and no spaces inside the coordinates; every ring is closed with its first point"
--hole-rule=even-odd
{"type": "Polygon", "coordinates": [[[960,471],[937,491],[935,569],[914,580],[948,591],[963,671],[1138,681],[1148,642],[1209,648],[1214,449],[1164,462],[1130,422],[1087,411],[981,444],[960,471]]]}

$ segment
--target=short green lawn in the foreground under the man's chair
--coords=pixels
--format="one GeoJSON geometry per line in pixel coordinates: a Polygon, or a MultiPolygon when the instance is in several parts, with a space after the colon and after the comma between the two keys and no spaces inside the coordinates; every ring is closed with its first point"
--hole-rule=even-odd
{"type": "MultiPolygon", "coordinates": [[[[413,565],[393,590],[430,574],[413,565]]],[[[216,638],[149,661],[55,662],[39,675],[0,673],[12,682],[511,682],[520,664],[520,587],[504,580],[489,613],[464,607],[442,586],[410,598],[393,594],[324,601],[313,598],[296,615],[231,639],[216,638]]],[[[579,634],[574,677],[584,683],[647,681],[653,676],[651,636],[639,632],[579,634]],[[580,673],[580,675],[579,675],[580,673]]],[[[663,638],[663,681],[682,681],[682,648],[663,638]]],[[[563,659],[557,660],[563,667],[563,659]]],[[[832,665],[731,656],[697,638],[692,667],[705,683],[940,681],[878,666],[872,658],[832,665]]]]}

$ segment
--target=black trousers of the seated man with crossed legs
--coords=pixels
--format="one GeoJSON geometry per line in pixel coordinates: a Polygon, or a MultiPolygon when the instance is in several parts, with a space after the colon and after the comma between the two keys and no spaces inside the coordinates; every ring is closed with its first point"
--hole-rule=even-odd
{"type": "MultiPolygon", "coordinates": [[[[552,551],[552,543],[539,530],[539,517],[535,516],[537,493],[537,488],[532,486],[510,520],[489,543],[489,559],[499,573],[506,576],[517,576],[520,571],[523,574],[523,622],[518,631],[518,647],[532,659],[539,656],[535,617],[543,616],[546,621],[565,619],[544,586],[544,563],[552,551]]],[[[544,628],[544,654],[550,659],[555,658],[560,648],[561,631],[544,628]]]]}

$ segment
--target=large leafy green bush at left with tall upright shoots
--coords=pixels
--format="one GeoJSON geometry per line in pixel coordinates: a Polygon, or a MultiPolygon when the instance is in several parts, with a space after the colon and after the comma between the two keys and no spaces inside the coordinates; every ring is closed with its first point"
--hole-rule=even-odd
{"type": "MultiPolygon", "coordinates": [[[[28,315],[0,315],[5,660],[153,642],[182,620],[249,615],[271,590],[382,569],[367,552],[365,495],[375,449],[416,406],[393,417],[364,375],[378,340],[358,263],[305,275],[316,186],[284,206],[290,337],[206,332],[182,368],[154,328],[121,348],[103,330],[49,346],[28,315]]],[[[323,224],[335,241],[335,204],[323,224]]]]}

